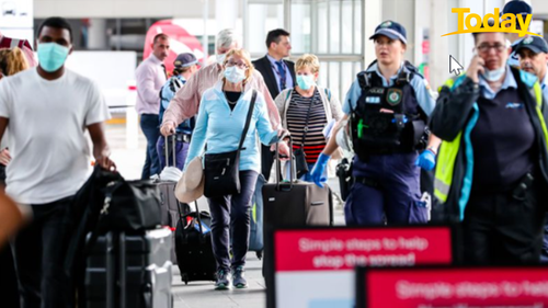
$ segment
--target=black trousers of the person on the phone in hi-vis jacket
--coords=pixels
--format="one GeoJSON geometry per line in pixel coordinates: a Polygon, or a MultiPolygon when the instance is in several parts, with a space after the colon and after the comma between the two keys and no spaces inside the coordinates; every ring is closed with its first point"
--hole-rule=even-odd
{"type": "Polygon", "coordinates": [[[475,193],[465,210],[467,264],[521,265],[539,262],[546,198],[533,186],[516,199],[512,192],[475,193]]]}

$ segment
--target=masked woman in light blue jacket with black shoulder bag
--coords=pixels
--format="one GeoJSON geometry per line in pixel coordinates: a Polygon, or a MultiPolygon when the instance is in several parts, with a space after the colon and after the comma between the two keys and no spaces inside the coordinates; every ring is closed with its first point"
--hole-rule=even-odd
{"type": "MultiPolygon", "coordinates": [[[[222,78],[202,95],[186,164],[202,155],[205,145],[206,153],[238,149],[251,98],[253,92],[256,92],[247,87],[253,73],[253,66],[246,50],[232,49],[227,54],[222,67],[222,78]]],[[[217,261],[216,289],[229,287],[230,272],[235,287],[247,287],[243,266],[249,246],[249,209],[261,172],[261,156],[255,136],[259,136],[264,145],[271,145],[284,133],[283,129],[273,130],[264,98],[256,92],[251,123],[240,152],[240,193],[207,198],[212,214],[213,251],[217,261]],[[235,212],[232,216],[231,210],[235,212]],[[230,225],[233,226],[231,241],[230,225]],[[230,242],[232,259],[229,255],[230,242]]]]}

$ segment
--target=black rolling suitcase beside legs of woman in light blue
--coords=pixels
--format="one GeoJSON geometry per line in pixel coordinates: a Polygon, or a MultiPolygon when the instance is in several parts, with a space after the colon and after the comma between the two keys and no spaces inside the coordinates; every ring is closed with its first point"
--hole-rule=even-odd
{"type": "Polygon", "coordinates": [[[181,280],[189,284],[193,281],[215,281],[217,265],[212,247],[212,217],[207,212],[183,213],[180,210],[175,230],[175,253],[181,280]],[[199,213],[199,215],[198,215],[199,213]]]}

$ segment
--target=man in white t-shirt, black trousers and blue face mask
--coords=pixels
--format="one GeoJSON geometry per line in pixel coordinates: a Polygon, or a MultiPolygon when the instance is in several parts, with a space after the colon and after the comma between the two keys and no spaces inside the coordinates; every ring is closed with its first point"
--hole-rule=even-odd
{"type": "Polygon", "coordinates": [[[60,248],[67,209],[92,171],[85,130],[96,163],[115,170],[102,127],[107,106],[94,82],[65,69],[71,50],[67,21],[47,19],[38,30],[38,67],[0,82],[0,139],[9,127],[12,156],[7,193],[33,212],[14,241],[23,308],[67,305],[60,248]]]}

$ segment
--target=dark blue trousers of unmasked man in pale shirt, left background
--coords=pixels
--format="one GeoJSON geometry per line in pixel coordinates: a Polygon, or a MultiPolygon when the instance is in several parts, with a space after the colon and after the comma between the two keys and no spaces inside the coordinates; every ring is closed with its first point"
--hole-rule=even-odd
{"type": "Polygon", "coordinates": [[[160,173],[160,160],[156,151],[156,142],[160,137],[160,125],[157,114],[141,114],[140,115],[140,129],[147,138],[147,159],[142,167],[141,179],[148,180],[151,175],[160,173]]]}

